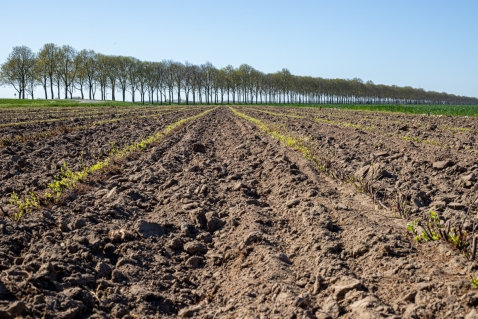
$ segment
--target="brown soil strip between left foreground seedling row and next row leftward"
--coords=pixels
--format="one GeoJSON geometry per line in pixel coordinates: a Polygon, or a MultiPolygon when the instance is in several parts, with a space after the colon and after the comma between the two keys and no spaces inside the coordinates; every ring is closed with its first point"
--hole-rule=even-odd
{"type": "Polygon", "coordinates": [[[47,140],[29,141],[2,150],[2,205],[9,201],[9,194],[27,194],[42,190],[66,165],[73,171],[108,156],[152,133],[161,130],[177,119],[199,113],[200,109],[165,114],[137,122],[127,121],[93,126],[84,131],[54,136],[47,140]]]}

